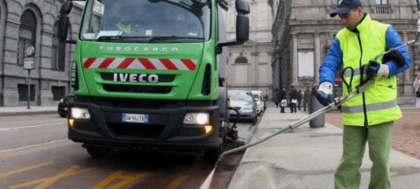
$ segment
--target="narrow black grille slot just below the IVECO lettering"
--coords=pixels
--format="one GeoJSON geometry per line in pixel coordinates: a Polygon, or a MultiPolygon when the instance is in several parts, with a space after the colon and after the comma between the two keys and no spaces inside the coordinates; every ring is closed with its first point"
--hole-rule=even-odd
{"type": "Polygon", "coordinates": [[[135,93],[158,93],[168,94],[171,92],[172,87],[167,86],[141,86],[141,85],[102,85],[104,90],[108,92],[135,92],[135,93]]]}

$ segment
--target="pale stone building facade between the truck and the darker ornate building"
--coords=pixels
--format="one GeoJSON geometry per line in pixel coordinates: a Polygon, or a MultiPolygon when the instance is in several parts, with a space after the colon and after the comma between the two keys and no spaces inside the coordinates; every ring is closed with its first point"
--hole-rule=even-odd
{"type": "MultiPolygon", "coordinates": [[[[229,47],[228,89],[260,90],[272,97],[272,24],[279,0],[247,0],[251,13],[249,38],[244,45],[229,47]]],[[[235,0],[225,15],[228,39],[235,38],[235,0]]]]}

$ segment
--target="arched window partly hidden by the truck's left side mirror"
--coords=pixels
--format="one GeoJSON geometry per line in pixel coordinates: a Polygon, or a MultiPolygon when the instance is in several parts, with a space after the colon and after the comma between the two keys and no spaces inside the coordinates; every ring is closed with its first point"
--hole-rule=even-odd
{"type": "Polygon", "coordinates": [[[64,71],[64,62],[66,60],[66,45],[59,41],[57,36],[58,21],[54,23],[52,30],[54,31],[54,34],[52,36],[51,45],[51,69],[64,71]]]}

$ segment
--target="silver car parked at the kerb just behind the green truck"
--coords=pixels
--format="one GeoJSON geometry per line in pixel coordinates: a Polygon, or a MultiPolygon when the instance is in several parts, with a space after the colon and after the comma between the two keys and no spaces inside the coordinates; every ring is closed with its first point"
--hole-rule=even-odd
{"type": "MultiPolygon", "coordinates": [[[[250,91],[229,90],[230,106],[239,111],[239,120],[251,120],[255,125],[257,123],[257,104],[250,91]]],[[[237,113],[230,110],[230,118],[235,119],[237,113]]]]}

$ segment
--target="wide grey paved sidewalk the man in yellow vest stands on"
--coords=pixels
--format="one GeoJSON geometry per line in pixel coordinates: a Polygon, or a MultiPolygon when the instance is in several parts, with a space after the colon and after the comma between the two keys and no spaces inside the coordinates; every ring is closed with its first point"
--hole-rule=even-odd
{"type": "MultiPolygon", "coordinates": [[[[267,107],[251,141],[287,127],[306,113],[279,113],[267,107]]],[[[367,154],[361,167],[361,186],[367,188],[372,163],[367,154]]],[[[230,182],[229,189],[334,188],[333,174],[342,155],[342,129],[325,124],[310,128],[305,123],[248,148],[230,182]]],[[[392,188],[420,188],[420,160],[391,151],[392,188]]]]}

